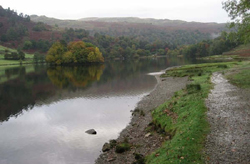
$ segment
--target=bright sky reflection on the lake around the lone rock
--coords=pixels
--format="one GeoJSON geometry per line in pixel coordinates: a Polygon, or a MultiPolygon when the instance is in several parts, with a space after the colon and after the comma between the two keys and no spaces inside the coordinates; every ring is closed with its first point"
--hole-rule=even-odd
{"type": "Polygon", "coordinates": [[[93,163],[141,97],[77,98],[24,111],[0,127],[0,163],[93,163]],[[85,133],[90,128],[96,136],[85,133]]]}

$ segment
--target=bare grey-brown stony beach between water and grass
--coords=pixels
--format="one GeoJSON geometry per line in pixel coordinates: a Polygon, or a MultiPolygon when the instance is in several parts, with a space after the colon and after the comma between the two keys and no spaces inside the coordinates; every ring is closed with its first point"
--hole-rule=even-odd
{"type": "Polygon", "coordinates": [[[112,148],[99,156],[96,160],[97,164],[131,164],[135,161],[135,153],[143,156],[148,155],[167,139],[156,132],[149,133],[146,131],[148,124],[152,121],[151,111],[170,99],[176,91],[184,88],[188,83],[188,77],[160,78],[157,75],[156,79],[158,81],[156,88],[138,103],[137,112],[133,112],[130,124],[120,133],[117,139],[118,143],[124,142],[124,140],[128,141],[131,145],[130,150],[118,154],[112,148]]]}

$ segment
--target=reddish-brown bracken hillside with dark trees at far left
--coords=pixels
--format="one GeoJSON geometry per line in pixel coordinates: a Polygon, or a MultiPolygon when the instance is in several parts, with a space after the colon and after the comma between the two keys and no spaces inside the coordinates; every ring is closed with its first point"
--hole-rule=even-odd
{"type": "Polygon", "coordinates": [[[28,15],[18,14],[14,10],[0,6],[0,43],[7,47],[27,50],[47,51],[52,42],[62,37],[49,25],[36,23],[28,15]],[[29,47],[29,42],[35,46],[29,47]],[[25,47],[26,46],[26,47],[25,47]]]}

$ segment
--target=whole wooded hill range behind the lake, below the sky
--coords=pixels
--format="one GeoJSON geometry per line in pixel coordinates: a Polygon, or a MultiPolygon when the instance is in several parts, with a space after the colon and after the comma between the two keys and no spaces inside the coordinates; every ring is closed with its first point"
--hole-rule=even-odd
{"type": "Polygon", "coordinates": [[[225,24],[152,18],[60,20],[0,6],[0,44],[33,52],[47,52],[57,40],[83,40],[99,47],[105,58],[165,55],[179,46],[212,39],[222,30],[225,24]]]}

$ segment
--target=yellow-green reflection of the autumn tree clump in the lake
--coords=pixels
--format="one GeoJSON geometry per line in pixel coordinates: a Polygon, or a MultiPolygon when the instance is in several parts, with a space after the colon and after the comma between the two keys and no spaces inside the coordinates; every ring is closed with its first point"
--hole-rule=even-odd
{"type": "Polygon", "coordinates": [[[91,65],[88,67],[51,67],[47,74],[51,82],[60,87],[68,88],[85,87],[89,83],[99,81],[103,73],[104,65],[91,65]]]}

